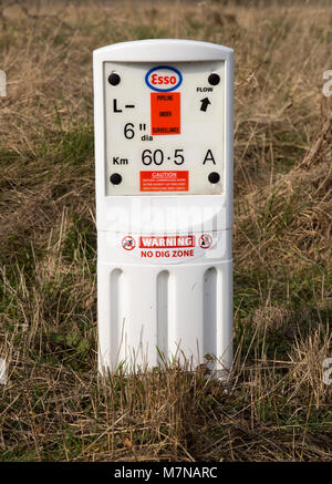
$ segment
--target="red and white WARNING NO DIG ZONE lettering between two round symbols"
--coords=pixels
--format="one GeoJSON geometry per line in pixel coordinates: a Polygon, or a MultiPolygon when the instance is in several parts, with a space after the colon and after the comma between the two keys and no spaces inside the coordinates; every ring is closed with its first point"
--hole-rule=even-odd
{"type": "Polygon", "coordinates": [[[194,257],[195,236],[139,237],[141,257],[194,257]],[[154,250],[152,250],[154,249],[154,250]]]}

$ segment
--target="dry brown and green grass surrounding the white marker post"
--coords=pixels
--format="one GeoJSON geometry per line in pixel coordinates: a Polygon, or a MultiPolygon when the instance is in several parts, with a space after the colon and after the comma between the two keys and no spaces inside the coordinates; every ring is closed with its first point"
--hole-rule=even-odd
{"type": "MultiPolygon", "coordinates": [[[[331,461],[332,8],[0,2],[0,460],[331,461]],[[2,7],[1,7],[2,6],[2,7]],[[37,7],[35,7],[37,6],[37,7]],[[236,50],[235,374],[96,374],[93,49],[236,50]],[[330,63],[329,63],[330,62],[330,63]]],[[[243,2],[242,2],[243,3],[243,2]]]]}

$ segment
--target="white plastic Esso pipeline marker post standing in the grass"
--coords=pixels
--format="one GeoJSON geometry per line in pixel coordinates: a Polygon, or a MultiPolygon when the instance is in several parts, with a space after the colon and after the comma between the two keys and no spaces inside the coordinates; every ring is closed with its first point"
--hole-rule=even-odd
{"type": "Polygon", "coordinates": [[[94,51],[98,369],[232,363],[234,51],[94,51]]]}

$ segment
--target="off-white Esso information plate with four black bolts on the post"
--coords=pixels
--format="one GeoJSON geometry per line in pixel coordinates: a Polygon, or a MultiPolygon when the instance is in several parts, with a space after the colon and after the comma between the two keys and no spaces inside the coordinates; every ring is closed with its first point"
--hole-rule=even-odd
{"type": "Polygon", "coordinates": [[[107,195],[222,190],[224,62],[104,65],[107,195]]]}

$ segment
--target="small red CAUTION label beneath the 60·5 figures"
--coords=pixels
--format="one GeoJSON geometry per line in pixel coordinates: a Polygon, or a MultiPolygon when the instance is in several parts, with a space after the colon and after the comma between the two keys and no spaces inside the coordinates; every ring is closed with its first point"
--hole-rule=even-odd
{"type": "Polygon", "coordinates": [[[189,172],[141,172],[141,192],[188,192],[189,172]]]}

